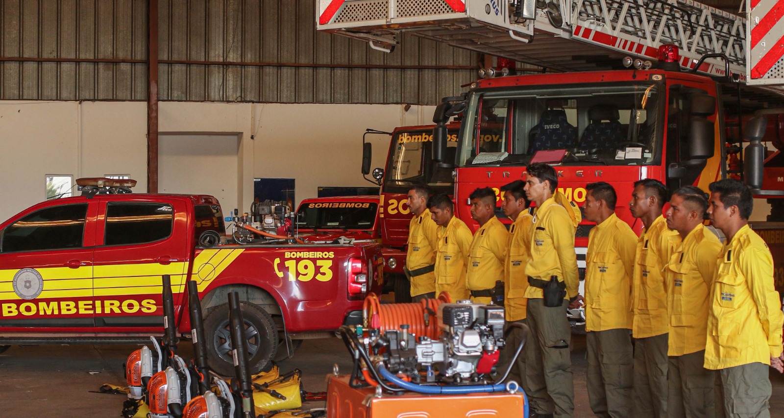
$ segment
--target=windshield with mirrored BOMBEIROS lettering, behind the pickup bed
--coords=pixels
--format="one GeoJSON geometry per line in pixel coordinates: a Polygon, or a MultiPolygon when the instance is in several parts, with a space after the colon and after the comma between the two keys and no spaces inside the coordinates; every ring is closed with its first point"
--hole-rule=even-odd
{"type": "Polygon", "coordinates": [[[372,231],[378,203],[311,202],[299,206],[300,229],[345,229],[372,231]]]}

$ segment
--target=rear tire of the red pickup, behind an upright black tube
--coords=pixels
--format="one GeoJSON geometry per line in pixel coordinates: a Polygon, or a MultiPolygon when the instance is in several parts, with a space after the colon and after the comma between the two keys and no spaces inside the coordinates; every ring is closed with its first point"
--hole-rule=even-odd
{"type": "MultiPolygon", "coordinates": [[[[256,374],[270,368],[278,348],[278,329],[270,314],[249,302],[241,301],[240,310],[245,321],[248,339],[250,373],[256,374]]],[[[207,312],[204,319],[207,340],[207,363],[221,376],[234,376],[229,329],[229,305],[222,304],[207,312]]]]}

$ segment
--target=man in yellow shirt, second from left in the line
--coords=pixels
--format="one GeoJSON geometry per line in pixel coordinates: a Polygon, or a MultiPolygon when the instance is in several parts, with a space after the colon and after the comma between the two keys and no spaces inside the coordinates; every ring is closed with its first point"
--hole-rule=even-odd
{"type": "Polygon", "coordinates": [[[469,299],[466,287],[466,265],[471,247],[471,230],[455,216],[455,205],[446,194],[436,194],[427,206],[438,225],[436,249],[436,296],[449,293],[452,302],[469,299]]]}

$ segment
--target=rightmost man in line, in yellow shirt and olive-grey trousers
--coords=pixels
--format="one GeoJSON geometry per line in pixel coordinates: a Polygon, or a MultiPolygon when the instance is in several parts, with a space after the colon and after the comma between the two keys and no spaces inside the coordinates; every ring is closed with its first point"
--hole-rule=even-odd
{"type": "Polygon", "coordinates": [[[705,368],[719,371],[727,416],[769,417],[768,365],[784,371],[784,315],[773,285],[773,258],[749,227],[749,188],[728,179],[710,184],[710,191],[710,220],[727,244],[710,293],[705,368]]]}

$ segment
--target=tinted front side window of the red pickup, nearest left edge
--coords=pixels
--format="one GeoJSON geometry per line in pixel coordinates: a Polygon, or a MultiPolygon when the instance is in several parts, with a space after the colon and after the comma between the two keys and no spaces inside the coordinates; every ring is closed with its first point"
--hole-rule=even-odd
{"type": "Polygon", "coordinates": [[[39,209],[2,231],[2,252],[82,248],[86,216],[86,203],[39,209]]]}

